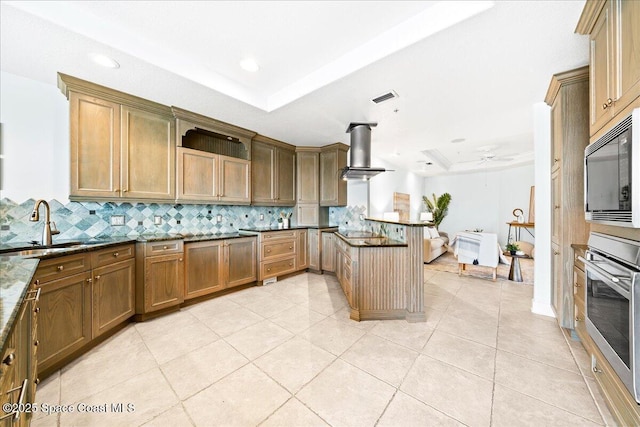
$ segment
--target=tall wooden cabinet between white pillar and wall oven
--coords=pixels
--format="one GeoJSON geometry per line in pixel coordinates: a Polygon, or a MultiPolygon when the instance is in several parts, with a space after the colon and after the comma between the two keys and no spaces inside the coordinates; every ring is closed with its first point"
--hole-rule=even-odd
{"type": "Polygon", "coordinates": [[[551,283],[560,326],[575,327],[573,252],[585,244],[584,149],[589,143],[589,67],[555,74],[545,102],[551,106],[551,283]]]}

